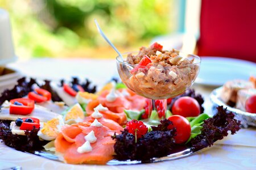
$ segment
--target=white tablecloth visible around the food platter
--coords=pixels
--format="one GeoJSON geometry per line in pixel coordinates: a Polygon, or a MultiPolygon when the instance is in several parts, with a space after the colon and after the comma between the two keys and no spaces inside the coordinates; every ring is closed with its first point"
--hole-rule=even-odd
{"type": "MultiPolygon", "coordinates": [[[[113,59],[53,59],[41,58],[10,64],[22,74],[39,79],[70,79],[71,76],[89,78],[95,84],[104,84],[118,76],[113,59]]],[[[205,113],[211,112],[209,94],[213,87],[194,84],[196,92],[205,99],[205,113]]],[[[256,169],[256,129],[241,129],[195,155],[177,160],[138,165],[69,165],[26,154],[0,144],[0,169],[21,166],[23,169],[256,169]]]]}

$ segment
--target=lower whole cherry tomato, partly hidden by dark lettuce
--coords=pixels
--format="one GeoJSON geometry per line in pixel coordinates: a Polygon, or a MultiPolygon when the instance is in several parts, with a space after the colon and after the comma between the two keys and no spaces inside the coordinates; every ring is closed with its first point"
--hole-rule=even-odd
{"type": "Polygon", "coordinates": [[[191,126],[187,118],[180,115],[173,115],[168,117],[168,120],[172,121],[168,129],[176,128],[176,136],[174,137],[175,143],[180,144],[188,141],[191,135],[191,126]]]}

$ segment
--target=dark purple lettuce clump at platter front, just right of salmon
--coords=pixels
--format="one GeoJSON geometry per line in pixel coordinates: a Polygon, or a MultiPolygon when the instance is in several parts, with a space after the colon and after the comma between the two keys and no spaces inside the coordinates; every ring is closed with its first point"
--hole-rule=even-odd
{"type": "Polygon", "coordinates": [[[135,143],[133,134],[128,133],[127,130],[122,131],[122,134],[114,135],[115,139],[114,150],[115,159],[118,160],[149,160],[151,158],[158,158],[166,156],[175,148],[175,129],[167,130],[166,125],[170,125],[170,121],[164,121],[164,125],[158,126],[164,131],[154,130],[150,131],[135,143]],[[163,128],[164,127],[164,128],[163,128]]]}

